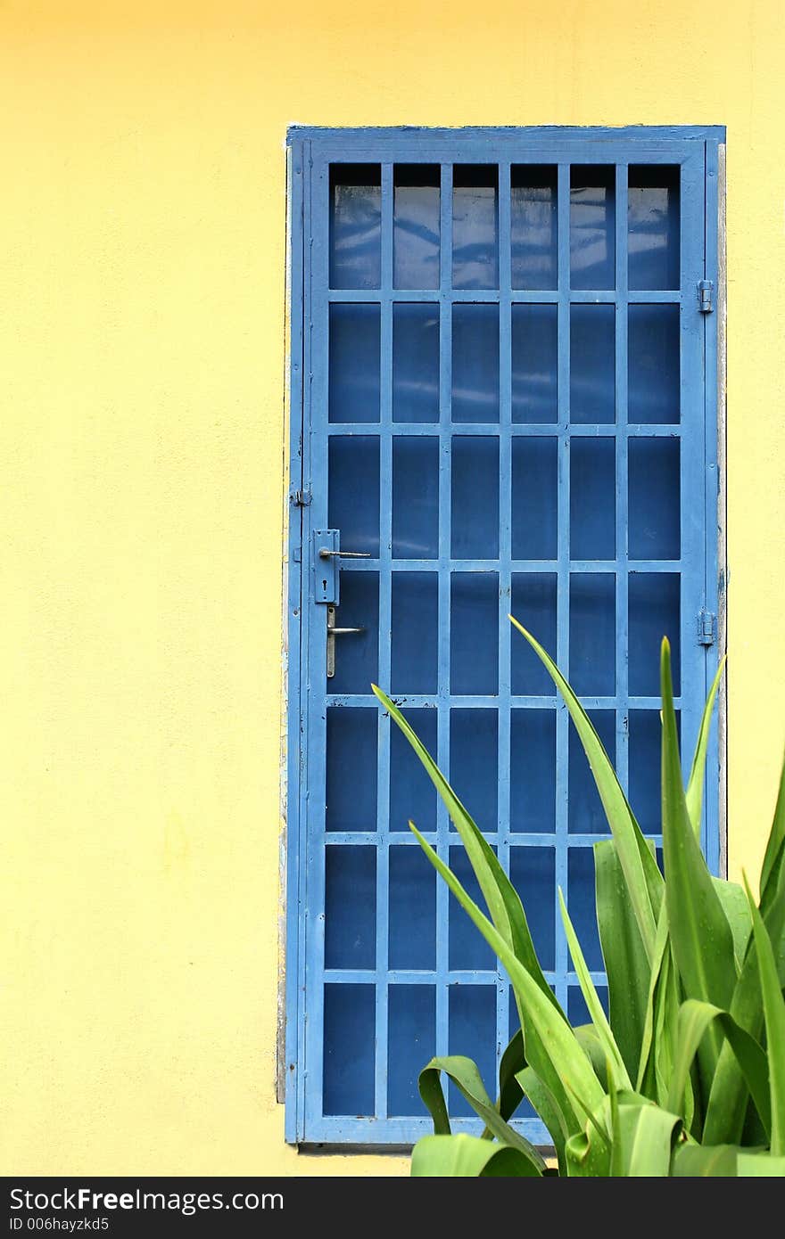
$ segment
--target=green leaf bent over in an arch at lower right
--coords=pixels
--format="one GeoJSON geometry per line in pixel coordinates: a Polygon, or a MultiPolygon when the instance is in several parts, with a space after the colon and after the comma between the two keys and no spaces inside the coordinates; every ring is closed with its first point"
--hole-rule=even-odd
{"type": "Polygon", "coordinates": [[[668,1110],[673,1110],[676,1114],[683,1113],[682,1100],[690,1077],[690,1067],[706,1030],[713,1021],[719,1023],[730,1043],[766,1134],[769,1134],[771,1108],[769,1105],[769,1068],[764,1051],[754,1037],[750,1037],[744,1028],[739,1028],[727,1011],[721,1011],[711,1002],[701,1002],[697,999],[687,999],[686,1002],[682,1002],[678,1012],[678,1043],[671,1077],[668,1110]]]}

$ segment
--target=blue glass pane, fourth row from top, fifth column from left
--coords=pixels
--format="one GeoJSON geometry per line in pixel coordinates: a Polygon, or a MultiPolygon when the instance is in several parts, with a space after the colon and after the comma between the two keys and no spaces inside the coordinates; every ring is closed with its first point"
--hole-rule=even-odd
{"type": "Polygon", "coordinates": [[[616,577],[573,572],[569,579],[569,683],[584,696],[616,691],[616,577]]]}

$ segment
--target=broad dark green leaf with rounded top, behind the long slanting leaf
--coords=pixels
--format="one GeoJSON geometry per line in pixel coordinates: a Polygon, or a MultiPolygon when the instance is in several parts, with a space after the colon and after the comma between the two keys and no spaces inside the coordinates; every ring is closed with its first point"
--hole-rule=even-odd
{"type": "Polygon", "coordinates": [[[634,1079],[644,1041],[651,965],[613,839],[594,844],[594,880],[597,923],[608,973],[610,1026],[628,1073],[634,1079]]]}

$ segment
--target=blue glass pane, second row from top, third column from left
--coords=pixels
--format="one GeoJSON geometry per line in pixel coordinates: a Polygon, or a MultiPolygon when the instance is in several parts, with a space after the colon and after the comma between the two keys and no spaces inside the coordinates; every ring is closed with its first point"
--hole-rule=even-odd
{"type": "Polygon", "coordinates": [[[499,421],[499,306],[453,306],[453,421],[499,421]]]}

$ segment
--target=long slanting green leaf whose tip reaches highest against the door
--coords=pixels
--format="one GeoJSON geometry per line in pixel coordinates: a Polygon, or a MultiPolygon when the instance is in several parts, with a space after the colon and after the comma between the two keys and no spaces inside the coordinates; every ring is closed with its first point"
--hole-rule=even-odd
{"type": "Polygon", "coordinates": [[[635,912],[644,950],[647,958],[652,959],[656,918],[662,900],[662,875],[646,846],[646,841],[632,815],[616,772],[603,748],[603,743],[589,716],[549,654],[513,616],[510,616],[510,620],[538,655],[551,679],[564,698],[589,761],[608,824],[616,841],[619,861],[624,870],[630,903],[635,912]]]}

